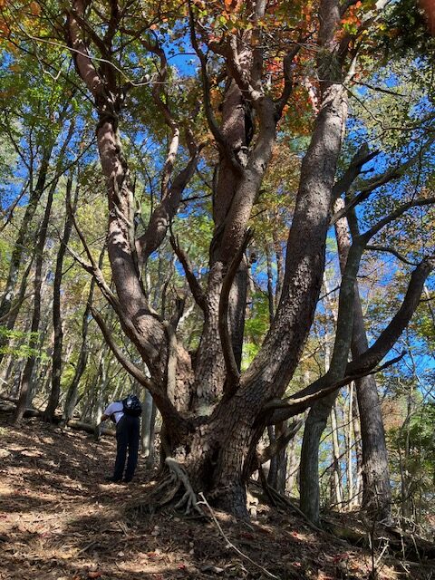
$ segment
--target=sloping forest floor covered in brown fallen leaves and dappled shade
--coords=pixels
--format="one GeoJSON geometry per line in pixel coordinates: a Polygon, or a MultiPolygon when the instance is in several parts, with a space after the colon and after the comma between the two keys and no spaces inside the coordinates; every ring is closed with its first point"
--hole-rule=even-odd
{"type": "MultiPolygon", "coordinates": [[[[95,443],[40,420],[14,428],[10,415],[0,413],[0,440],[1,580],[374,577],[369,550],[261,501],[250,524],[215,512],[227,539],[212,519],[170,509],[138,513],[152,474],[142,462],[129,486],[104,483],[114,460],[112,438],[95,443]]],[[[434,562],[387,555],[376,548],[380,580],[435,578],[434,562]]]]}

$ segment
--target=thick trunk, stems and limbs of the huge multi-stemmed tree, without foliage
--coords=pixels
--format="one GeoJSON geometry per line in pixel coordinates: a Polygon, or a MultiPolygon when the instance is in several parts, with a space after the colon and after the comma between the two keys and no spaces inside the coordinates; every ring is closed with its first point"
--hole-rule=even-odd
{"type": "MultiPolygon", "coordinates": [[[[93,315],[112,352],[131,375],[150,391],[156,402],[163,419],[163,454],[175,456],[182,462],[194,490],[204,491],[220,507],[237,516],[247,517],[247,479],[256,461],[256,444],[266,426],[304,411],[316,398],[335,391],[341,382],[349,382],[352,372],[370,372],[397,335],[395,328],[390,329],[387,335],[382,336],[381,343],[375,343],[365,353],[362,362],[347,363],[352,331],[353,280],[364,241],[359,240],[353,247],[352,259],[348,260],[343,275],[331,371],[319,382],[296,393],[289,401],[281,401],[313,323],[324,273],[333,183],[347,116],[342,71],[347,44],[339,39],[338,34],[343,17],[341,5],[336,0],[321,2],[317,63],[320,107],[313,137],[302,162],[280,300],[265,342],[250,368],[243,373],[239,369],[241,336],[234,332],[234,327],[236,324],[240,327],[243,318],[243,254],[248,241],[247,228],[271,159],[276,123],[291,91],[291,64],[295,53],[288,55],[285,64],[282,98],[274,102],[262,85],[264,39],[258,20],[263,16],[266,3],[249,3],[252,29],[242,31],[240,36],[230,37],[222,43],[210,41],[210,50],[216,50],[217,55],[222,57],[227,71],[225,106],[228,111],[223,116],[228,119],[228,131],[235,130],[232,140],[227,126],[219,127],[213,115],[207,57],[197,41],[194,8],[189,5],[192,45],[198,54],[203,75],[204,109],[219,150],[218,179],[221,181],[218,188],[222,194],[220,198],[218,193],[215,197],[219,205],[214,208],[215,232],[210,247],[206,289],[198,283],[184,250],[178,246],[177,240],[173,240],[192,295],[204,314],[201,343],[196,364],[192,368],[189,353],[177,341],[180,309],[174,308],[166,319],[155,313],[144,291],[141,271],[151,252],[160,246],[166,236],[179,208],[181,192],[196,166],[200,148],[194,147],[191,139],[186,138],[190,160],[170,186],[179,148],[179,123],[170,111],[168,95],[164,94],[168,84],[168,67],[163,48],[157,41],[151,43],[143,35],[140,42],[160,59],[157,82],[151,93],[172,138],[162,168],[160,204],[150,217],[147,231],[136,240],[133,191],[119,132],[124,97],[121,82],[124,81],[119,78],[119,69],[111,65],[115,53],[112,41],[121,15],[116,10],[111,13],[111,26],[107,34],[93,46],[102,53],[97,71],[85,43],[85,39],[91,42],[95,38],[88,34],[83,24],[87,22],[87,6],[84,0],[73,0],[73,10],[68,14],[68,33],[77,71],[92,94],[99,119],[96,133],[106,181],[109,207],[107,246],[116,295],[104,281],[97,265],[91,263],[84,266],[95,276],[102,294],[119,316],[123,331],[135,345],[150,377],[121,352],[102,317],[97,312],[93,315]],[[234,110],[230,109],[231,102],[234,110]],[[247,136],[236,146],[236,139],[242,131],[242,107],[245,111],[246,103],[250,111],[255,111],[258,127],[256,139],[248,150],[244,149],[248,146],[247,136]],[[240,149],[237,150],[237,147],[240,149]],[[226,163],[228,166],[225,166],[226,163]],[[228,182],[224,188],[226,179],[228,182]],[[176,183],[178,187],[174,188],[176,183]],[[237,271],[240,283],[235,283],[237,271]],[[237,289],[236,298],[235,294],[231,294],[232,288],[233,293],[237,289]],[[383,340],[385,336],[387,340],[383,340]]],[[[99,38],[98,35],[96,38],[99,38]]],[[[246,130],[246,119],[244,123],[246,130]]],[[[92,262],[92,256],[88,257],[92,262]]],[[[412,283],[415,292],[430,267],[429,264],[421,266],[412,283]]],[[[412,292],[409,302],[401,316],[403,320],[411,314],[416,304],[412,292]]]]}

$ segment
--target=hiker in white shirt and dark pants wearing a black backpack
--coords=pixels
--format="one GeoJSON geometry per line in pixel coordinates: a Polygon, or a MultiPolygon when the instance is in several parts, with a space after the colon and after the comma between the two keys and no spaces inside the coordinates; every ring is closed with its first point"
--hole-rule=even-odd
{"type": "Polygon", "coordinates": [[[113,401],[102,414],[102,421],[111,419],[116,423],[116,460],[113,475],[106,478],[112,483],[129,483],[138,464],[140,439],[140,414],[142,408],[136,395],[122,401],[113,401]],[[127,459],[127,450],[129,456],[127,459]],[[125,460],[127,468],[125,469],[125,460]],[[123,478],[122,478],[123,476],[123,478]]]}

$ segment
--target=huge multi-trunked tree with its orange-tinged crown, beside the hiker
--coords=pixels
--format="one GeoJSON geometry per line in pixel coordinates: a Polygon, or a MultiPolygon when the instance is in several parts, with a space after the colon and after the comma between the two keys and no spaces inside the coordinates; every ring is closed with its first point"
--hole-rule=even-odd
{"type": "MultiPolygon", "coordinates": [[[[134,2],[72,0],[66,8],[64,36],[97,117],[109,206],[107,251],[115,292],[89,250],[87,262],[77,259],[92,272],[144,367],[120,351],[98,312],[94,318],[112,351],[150,391],[159,408],[163,456],[182,464],[194,491],[203,491],[241,517],[247,515],[247,479],[257,465],[256,446],[266,427],[281,424],[341,385],[372,372],[408,324],[433,266],[430,259],[422,260],[391,323],[370,348],[356,356],[353,353],[349,362],[354,286],[362,252],[393,218],[428,200],[412,199],[355,236],[343,266],[329,371],[283,400],[314,320],[333,203],[343,194],[335,181],[348,115],[348,86],[357,70],[358,51],[370,35],[366,33],[382,15],[380,6],[364,8],[358,19],[355,4],[321,0],[318,9],[306,9],[311,18],[304,18],[306,10],[285,3],[277,10],[277,5],[249,0],[210,3],[207,8],[199,1],[187,6],[160,3],[159,9],[150,3],[145,11],[143,7],[135,11],[134,2]],[[167,22],[182,31],[181,42],[189,38],[191,51],[198,57],[202,96],[198,99],[198,91],[189,93],[192,82],[188,79],[188,93],[179,106],[170,91],[174,77],[167,52],[173,47],[159,31],[159,24],[167,22]],[[129,53],[131,47],[138,48],[138,58],[129,53]],[[125,71],[146,63],[147,75],[140,82],[127,80],[122,59],[128,62],[125,71]],[[155,66],[151,73],[150,63],[155,66]],[[273,155],[277,125],[284,114],[298,114],[292,111],[292,92],[307,83],[307,93],[314,95],[315,119],[301,165],[279,304],[255,359],[241,372],[245,250],[252,210],[273,155]],[[161,167],[160,203],[139,237],[135,189],[121,139],[123,107],[130,92],[150,94],[153,111],[161,115],[169,135],[161,167]],[[204,120],[208,131],[203,129],[204,120]],[[171,229],[203,152],[206,155],[212,148],[217,151],[217,167],[207,278],[199,281],[183,240],[175,233],[171,236],[203,317],[198,350],[192,356],[178,340],[183,301],[163,318],[150,304],[143,273],[171,229]]],[[[165,26],[168,29],[164,24],[162,31],[165,26]]],[[[173,461],[168,464],[174,466],[173,461]]]]}

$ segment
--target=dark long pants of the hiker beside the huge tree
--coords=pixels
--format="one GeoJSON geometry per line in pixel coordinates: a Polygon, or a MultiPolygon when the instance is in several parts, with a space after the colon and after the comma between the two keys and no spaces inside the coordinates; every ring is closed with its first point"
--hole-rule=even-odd
{"type": "Polygon", "coordinates": [[[130,415],[121,417],[121,420],[116,424],[116,460],[113,479],[122,479],[127,449],[129,450],[129,459],[127,460],[124,479],[130,480],[133,478],[134,470],[138,464],[139,437],[139,417],[131,417],[130,415]]]}

